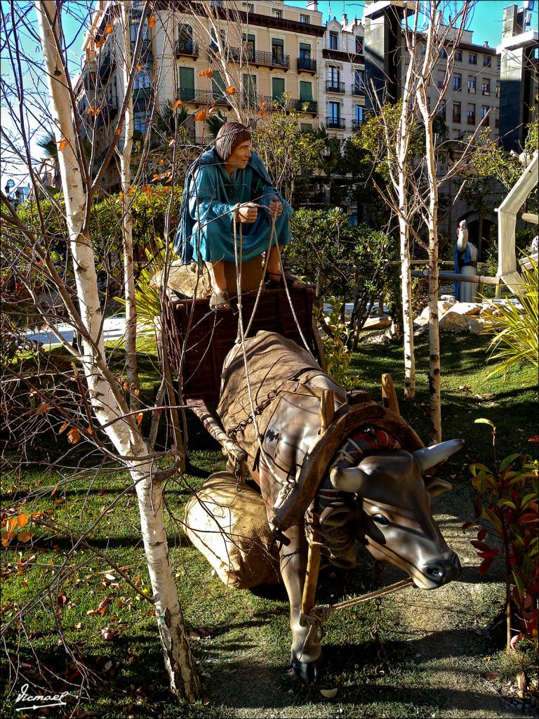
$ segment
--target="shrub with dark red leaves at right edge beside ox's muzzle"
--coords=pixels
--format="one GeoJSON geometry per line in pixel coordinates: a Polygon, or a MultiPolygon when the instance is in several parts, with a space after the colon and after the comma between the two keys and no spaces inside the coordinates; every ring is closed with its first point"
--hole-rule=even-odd
{"type": "MultiPolygon", "coordinates": [[[[476,423],[492,427],[494,467],[471,464],[471,483],[479,494],[474,500],[476,519],[487,520],[492,528],[466,522],[464,528],[476,526],[477,539],[471,541],[482,559],[479,574],[485,574],[494,557],[499,556],[505,566],[507,649],[524,637],[538,649],[539,628],[539,503],[538,462],[528,455],[510,454],[498,462],[496,427],[488,419],[476,423]],[[501,548],[487,544],[487,534],[501,539],[501,548]],[[517,630],[513,624],[520,626],[517,630]]],[[[530,441],[535,441],[535,437],[530,441]]],[[[498,543],[497,543],[498,544],[498,543]]]]}

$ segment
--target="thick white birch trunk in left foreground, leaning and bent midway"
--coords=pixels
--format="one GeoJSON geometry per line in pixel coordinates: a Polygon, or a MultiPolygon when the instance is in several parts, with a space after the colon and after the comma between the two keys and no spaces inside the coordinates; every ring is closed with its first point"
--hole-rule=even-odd
{"type": "MultiPolygon", "coordinates": [[[[170,564],[162,516],[162,485],[152,481],[152,459],[134,416],[126,416],[123,395],[106,365],[101,331],[101,307],[91,237],[87,226],[87,203],[81,167],[75,152],[76,137],[70,102],[70,81],[58,52],[62,37],[60,4],[54,0],[35,0],[45,71],[50,91],[50,109],[58,143],[58,163],[65,198],[65,215],[70,236],[70,252],[83,326],[83,365],[93,415],[103,426],[116,452],[124,457],[137,490],[142,539],[149,579],[155,601],[155,615],[170,677],[170,688],[178,698],[195,700],[200,691],[198,675],[190,655],[183,614],[178,602],[170,564]]],[[[89,214],[88,214],[89,216],[89,214]]],[[[74,319],[74,318],[72,318],[74,319]]]]}

